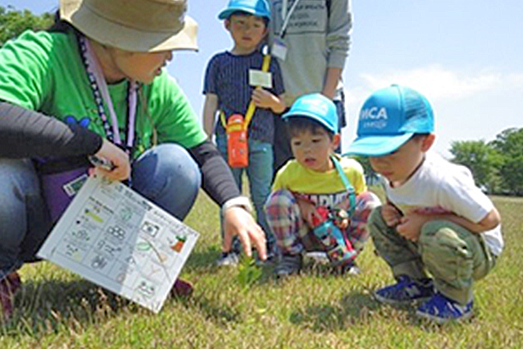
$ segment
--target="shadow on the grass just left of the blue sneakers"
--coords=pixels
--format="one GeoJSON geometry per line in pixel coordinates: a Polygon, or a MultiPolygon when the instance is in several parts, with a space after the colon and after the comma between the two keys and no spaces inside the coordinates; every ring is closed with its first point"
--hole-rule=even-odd
{"type": "Polygon", "coordinates": [[[351,292],[342,297],[338,305],[309,306],[305,311],[291,314],[290,321],[314,332],[342,331],[357,323],[370,321],[379,304],[369,295],[351,292]]]}

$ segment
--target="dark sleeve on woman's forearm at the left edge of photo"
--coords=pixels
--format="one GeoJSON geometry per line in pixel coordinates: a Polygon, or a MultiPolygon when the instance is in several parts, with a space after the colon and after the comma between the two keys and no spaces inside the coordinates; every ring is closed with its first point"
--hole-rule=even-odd
{"type": "Polygon", "coordinates": [[[66,157],[95,154],[102,138],[82,126],[0,101],[0,157],[66,157]]]}

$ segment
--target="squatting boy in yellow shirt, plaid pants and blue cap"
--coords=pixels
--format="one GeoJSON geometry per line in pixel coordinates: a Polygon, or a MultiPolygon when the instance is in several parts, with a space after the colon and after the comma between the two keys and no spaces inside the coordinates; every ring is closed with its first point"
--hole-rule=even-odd
{"type": "Polygon", "coordinates": [[[308,94],[282,118],[294,159],[276,174],[266,203],[267,223],[282,252],[274,272],[296,274],[303,252],[325,251],[336,270],[357,274],[354,259],[379,199],[367,191],[361,165],[334,154],[340,144],[336,107],[322,94],[308,94]]]}

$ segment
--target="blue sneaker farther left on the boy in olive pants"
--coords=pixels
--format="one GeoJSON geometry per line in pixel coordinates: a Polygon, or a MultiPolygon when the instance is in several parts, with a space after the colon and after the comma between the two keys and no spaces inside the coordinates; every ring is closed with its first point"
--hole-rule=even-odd
{"type": "Polygon", "coordinates": [[[374,292],[374,298],[388,304],[407,304],[424,300],[434,295],[434,286],[431,279],[412,280],[409,276],[397,277],[397,283],[385,286],[374,292]]]}

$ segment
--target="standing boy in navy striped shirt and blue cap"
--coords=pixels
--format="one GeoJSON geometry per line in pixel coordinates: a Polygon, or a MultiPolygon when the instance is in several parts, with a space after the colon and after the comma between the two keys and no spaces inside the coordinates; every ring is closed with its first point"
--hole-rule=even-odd
{"type": "MultiPolygon", "coordinates": [[[[232,36],[232,50],[215,54],[206,68],[204,80],[204,129],[208,135],[215,129],[216,144],[227,158],[227,122],[237,114],[248,119],[248,105],[256,105],[248,124],[248,165],[232,168],[234,179],[241,189],[241,177],[247,172],[250,193],[257,222],[266,232],[268,251],[273,249],[263,210],[273,179],[274,114],[285,110],[282,75],[278,62],[273,60],[263,71],[264,54],[261,46],[268,33],[271,8],[266,0],[230,0],[218,18],[232,36]],[[261,86],[261,87],[260,87],[261,86]],[[215,123],[216,114],[220,113],[215,123]]],[[[232,146],[231,146],[232,147],[232,146]]],[[[240,246],[224,244],[218,265],[236,265],[240,246]]]]}

